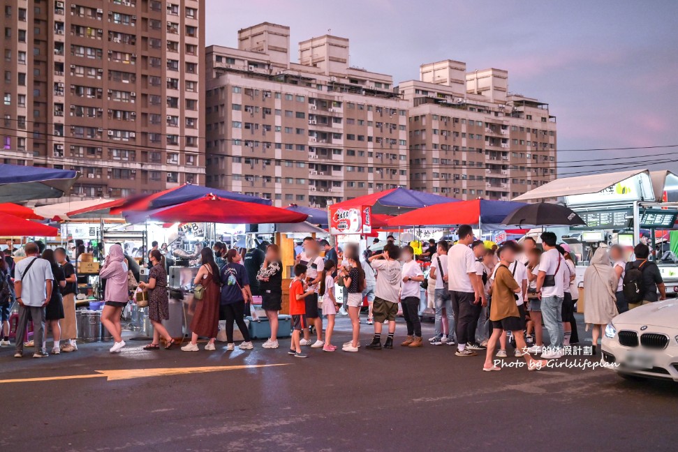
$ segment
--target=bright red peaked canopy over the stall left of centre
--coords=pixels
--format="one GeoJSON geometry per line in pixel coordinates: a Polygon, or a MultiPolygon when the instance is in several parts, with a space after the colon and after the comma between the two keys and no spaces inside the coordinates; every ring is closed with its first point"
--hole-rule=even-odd
{"type": "Polygon", "coordinates": [[[193,199],[156,211],[149,218],[167,223],[258,225],[262,223],[301,223],[306,221],[308,215],[288,209],[280,209],[279,207],[266,206],[265,204],[253,204],[207,195],[200,199],[193,199]]]}

